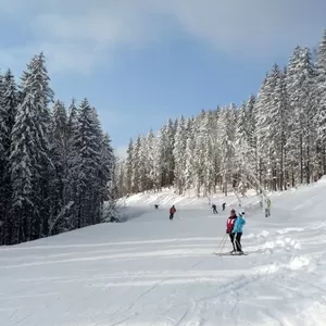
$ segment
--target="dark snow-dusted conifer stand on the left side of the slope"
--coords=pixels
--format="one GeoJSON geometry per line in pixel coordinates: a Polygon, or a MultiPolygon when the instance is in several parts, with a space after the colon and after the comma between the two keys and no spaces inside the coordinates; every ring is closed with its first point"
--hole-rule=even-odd
{"type": "Polygon", "coordinates": [[[112,201],[115,159],[96,109],[84,99],[66,110],[49,83],[42,53],[20,85],[0,75],[1,244],[99,223],[112,201]]]}

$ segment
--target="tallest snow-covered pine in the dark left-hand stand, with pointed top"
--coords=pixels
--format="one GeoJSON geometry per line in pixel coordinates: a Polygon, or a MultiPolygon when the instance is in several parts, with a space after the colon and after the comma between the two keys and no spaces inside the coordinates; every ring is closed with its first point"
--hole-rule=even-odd
{"type": "Polygon", "coordinates": [[[12,130],[13,243],[48,234],[52,164],[48,104],[53,99],[49,80],[43,54],[35,55],[22,77],[23,102],[18,105],[12,130]]]}

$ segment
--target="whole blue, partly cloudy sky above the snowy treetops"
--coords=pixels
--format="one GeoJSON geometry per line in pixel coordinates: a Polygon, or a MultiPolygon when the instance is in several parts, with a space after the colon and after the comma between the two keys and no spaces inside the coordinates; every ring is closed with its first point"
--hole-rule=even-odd
{"type": "Polygon", "coordinates": [[[87,97],[123,155],[167,118],[237,105],[297,45],[315,47],[325,0],[0,0],[0,67],[42,51],[57,99],[87,97]]]}

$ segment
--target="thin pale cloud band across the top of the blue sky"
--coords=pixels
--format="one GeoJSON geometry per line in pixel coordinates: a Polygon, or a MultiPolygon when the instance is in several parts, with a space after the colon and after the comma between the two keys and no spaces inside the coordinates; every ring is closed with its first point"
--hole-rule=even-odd
{"type": "MultiPolygon", "coordinates": [[[[137,48],[171,34],[172,24],[221,51],[278,55],[318,39],[322,0],[0,0],[0,15],[28,24],[54,71],[90,72],[121,48],[137,48]]],[[[12,49],[13,52],[17,51],[12,49]]],[[[10,53],[10,52],[9,52],[10,53]]]]}

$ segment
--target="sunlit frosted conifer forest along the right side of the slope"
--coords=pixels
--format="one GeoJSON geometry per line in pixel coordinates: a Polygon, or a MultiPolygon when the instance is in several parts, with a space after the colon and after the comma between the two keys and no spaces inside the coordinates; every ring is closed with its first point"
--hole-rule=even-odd
{"type": "Polygon", "coordinates": [[[284,190],[326,174],[325,146],[326,32],[315,51],[298,46],[287,66],[274,64],[239,108],[170,120],[156,135],[131,139],[116,170],[118,195],[284,190]]]}

